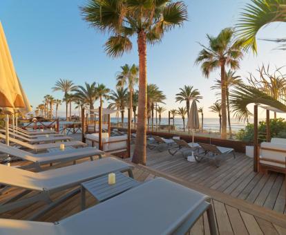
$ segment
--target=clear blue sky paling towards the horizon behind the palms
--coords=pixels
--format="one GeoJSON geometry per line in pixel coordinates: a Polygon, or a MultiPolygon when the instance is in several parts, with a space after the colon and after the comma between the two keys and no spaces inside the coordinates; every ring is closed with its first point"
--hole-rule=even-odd
{"type": "MultiPolygon", "coordinates": [[[[181,28],[167,32],[160,44],[147,48],[147,78],[157,84],[166,95],[169,109],[177,109],[175,94],[184,85],[197,88],[203,99],[198,106],[204,107],[206,118],[216,117],[208,109],[216,101],[216,91],[211,91],[219,71],[205,78],[195,59],[207,44],[206,34],[218,35],[220,30],[234,26],[247,0],[184,1],[188,8],[188,21],[181,28]]],[[[90,28],[80,14],[84,0],[1,0],[0,21],[3,24],[12,59],[32,106],[37,106],[44,95],[61,99],[63,93],[53,92],[59,78],[71,79],[75,84],[84,82],[103,83],[115,89],[115,75],[124,64],[138,64],[137,44],[133,50],[113,59],[104,53],[108,35],[90,28]]],[[[258,38],[285,37],[286,23],[272,23],[258,33],[258,38]]],[[[286,65],[286,52],[275,50],[276,44],[258,40],[258,55],[247,53],[240,63],[237,74],[247,77],[256,73],[263,63],[271,68],[286,65]]],[[[283,68],[286,73],[286,69],[283,68]]],[[[108,103],[105,102],[105,105],[108,103]]],[[[95,106],[98,102],[95,103],[95,106]]],[[[64,115],[65,106],[60,108],[64,115]]],[[[77,111],[73,111],[77,113],[77,111]]],[[[263,114],[263,111],[261,111],[263,114]]],[[[163,117],[167,117],[165,112],[163,117]]],[[[278,117],[286,118],[286,115],[278,117]]]]}

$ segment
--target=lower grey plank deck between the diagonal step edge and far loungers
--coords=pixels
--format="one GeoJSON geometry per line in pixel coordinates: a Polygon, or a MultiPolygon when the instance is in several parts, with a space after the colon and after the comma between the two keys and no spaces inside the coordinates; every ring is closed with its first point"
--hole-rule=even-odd
{"type": "Polygon", "coordinates": [[[236,153],[235,159],[231,155],[227,156],[217,168],[207,160],[200,163],[188,162],[180,153],[171,156],[168,151],[148,149],[146,165],[193,185],[285,214],[284,175],[255,173],[253,159],[242,153],[236,153]]]}

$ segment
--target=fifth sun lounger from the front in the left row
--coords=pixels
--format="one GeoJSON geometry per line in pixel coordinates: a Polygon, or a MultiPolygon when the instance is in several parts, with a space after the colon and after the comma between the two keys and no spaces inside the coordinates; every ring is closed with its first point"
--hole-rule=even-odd
{"type": "MultiPolygon", "coordinates": [[[[0,133],[5,133],[6,131],[3,129],[0,129],[0,133]]],[[[28,142],[30,144],[38,144],[38,143],[53,143],[53,142],[57,142],[57,141],[68,141],[68,140],[73,140],[73,138],[69,137],[69,136],[48,136],[46,137],[46,135],[41,135],[41,137],[38,138],[28,138],[25,137],[23,135],[19,135],[17,133],[10,133],[10,135],[14,138],[23,140],[25,142],[28,142]]]]}

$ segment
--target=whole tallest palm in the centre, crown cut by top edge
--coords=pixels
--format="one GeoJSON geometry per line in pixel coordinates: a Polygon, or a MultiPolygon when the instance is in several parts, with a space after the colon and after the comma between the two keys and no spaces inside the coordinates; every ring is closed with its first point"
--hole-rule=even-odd
{"type": "Polygon", "coordinates": [[[105,50],[120,57],[132,49],[131,37],[137,36],[139,55],[139,101],[137,138],[132,161],[146,164],[146,44],[161,41],[164,32],[182,26],[187,7],[182,1],[88,0],[82,8],[84,19],[102,32],[111,32],[105,50]]]}

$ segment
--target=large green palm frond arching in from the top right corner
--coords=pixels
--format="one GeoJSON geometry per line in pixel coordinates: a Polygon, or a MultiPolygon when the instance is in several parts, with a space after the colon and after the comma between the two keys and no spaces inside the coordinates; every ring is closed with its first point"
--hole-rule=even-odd
{"type": "MultiPolygon", "coordinates": [[[[271,22],[286,22],[285,0],[251,0],[251,3],[247,3],[237,24],[239,36],[245,40],[245,46],[257,53],[256,35],[263,26],[271,22]]],[[[272,41],[285,42],[286,39],[272,41]]],[[[281,49],[285,50],[285,46],[281,49]]]]}

